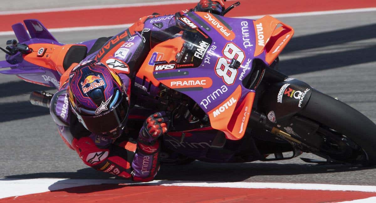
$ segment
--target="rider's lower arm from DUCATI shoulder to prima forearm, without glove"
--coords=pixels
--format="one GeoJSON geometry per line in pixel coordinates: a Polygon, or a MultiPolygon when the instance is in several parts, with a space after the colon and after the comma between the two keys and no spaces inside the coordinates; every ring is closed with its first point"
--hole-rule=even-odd
{"type": "MultiPolygon", "coordinates": [[[[56,92],[50,112],[65,144],[75,150],[86,165],[120,177],[133,177],[135,181],[150,181],[154,178],[159,168],[159,141],[137,143],[123,135],[113,142],[89,132],[71,113],[66,89],[56,92]]],[[[144,131],[141,129],[139,133],[140,141],[143,140],[141,133],[144,131]]]]}

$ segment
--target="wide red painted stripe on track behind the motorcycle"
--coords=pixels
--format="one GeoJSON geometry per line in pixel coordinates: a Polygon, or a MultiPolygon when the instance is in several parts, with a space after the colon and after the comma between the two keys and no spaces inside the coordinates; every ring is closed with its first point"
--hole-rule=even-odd
{"type": "MultiPolygon", "coordinates": [[[[197,0],[198,2],[198,0],[197,0]]],[[[264,14],[282,14],[309,11],[328,11],[338,9],[376,7],[374,0],[279,0],[255,1],[240,0],[241,6],[230,11],[226,16],[248,16],[264,14]]],[[[229,6],[232,2],[227,2],[229,6]]],[[[106,8],[81,11],[59,11],[33,14],[0,15],[0,31],[11,30],[11,25],[24,19],[39,19],[47,28],[82,27],[134,23],[142,16],[153,12],[172,14],[193,8],[195,4],[171,4],[162,6],[143,6],[127,8],[106,8]]]]}

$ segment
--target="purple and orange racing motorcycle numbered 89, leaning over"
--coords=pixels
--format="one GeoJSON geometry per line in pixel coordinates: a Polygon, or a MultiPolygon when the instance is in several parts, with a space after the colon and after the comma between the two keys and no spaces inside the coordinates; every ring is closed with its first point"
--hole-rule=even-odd
{"type": "MultiPolygon", "coordinates": [[[[179,20],[188,29],[153,47],[132,80],[132,111],[171,112],[162,143],[179,163],[276,161],[308,152],[326,163],[376,164],[371,120],[277,70],[292,27],[271,16],[249,20],[187,12],[179,20]]],[[[126,42],[120,33],[61,44],[38,20],[12,29],[18,42],[9,40],[1,48],[6,61],[0,70],[10,69],[0,73],[55,88],[68,81],[72,64],[116,45],[111,43],[126,42]]],[[[30,101],[49,107],[51,96],[33,92],[30,101]]]]}

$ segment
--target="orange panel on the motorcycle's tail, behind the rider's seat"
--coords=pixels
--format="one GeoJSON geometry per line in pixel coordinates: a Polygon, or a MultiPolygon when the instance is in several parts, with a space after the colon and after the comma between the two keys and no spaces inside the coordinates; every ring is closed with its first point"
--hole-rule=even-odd
{"type": "MultiPolygon", "coordinates": [[[[24,55],[24,59],[40,67],[57,70],[60,74],[65,72],[63,67],[63,61],[69,48],[77,44],[56,45],[56,44],[30,44],[33,52],[28,55],[24,55]],[[41,56],[38,55],[38,50],[45,49],[45,53],[41,56]]],[[[82,45],[84,46],[84,45],[82,45]]]]}

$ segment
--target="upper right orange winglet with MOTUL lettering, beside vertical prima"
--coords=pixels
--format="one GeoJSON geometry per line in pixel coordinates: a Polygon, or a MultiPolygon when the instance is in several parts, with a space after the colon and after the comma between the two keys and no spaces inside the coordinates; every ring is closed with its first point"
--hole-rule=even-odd
{"type": "Polygon", "coordinates": [[[294,35],[294,29],[266,15],[253,21],[256,32],[255,56],[266,51],[265,61],[271,64],[294,35]],[[277,26],[280,27],[277,28],[277,26]]]}

